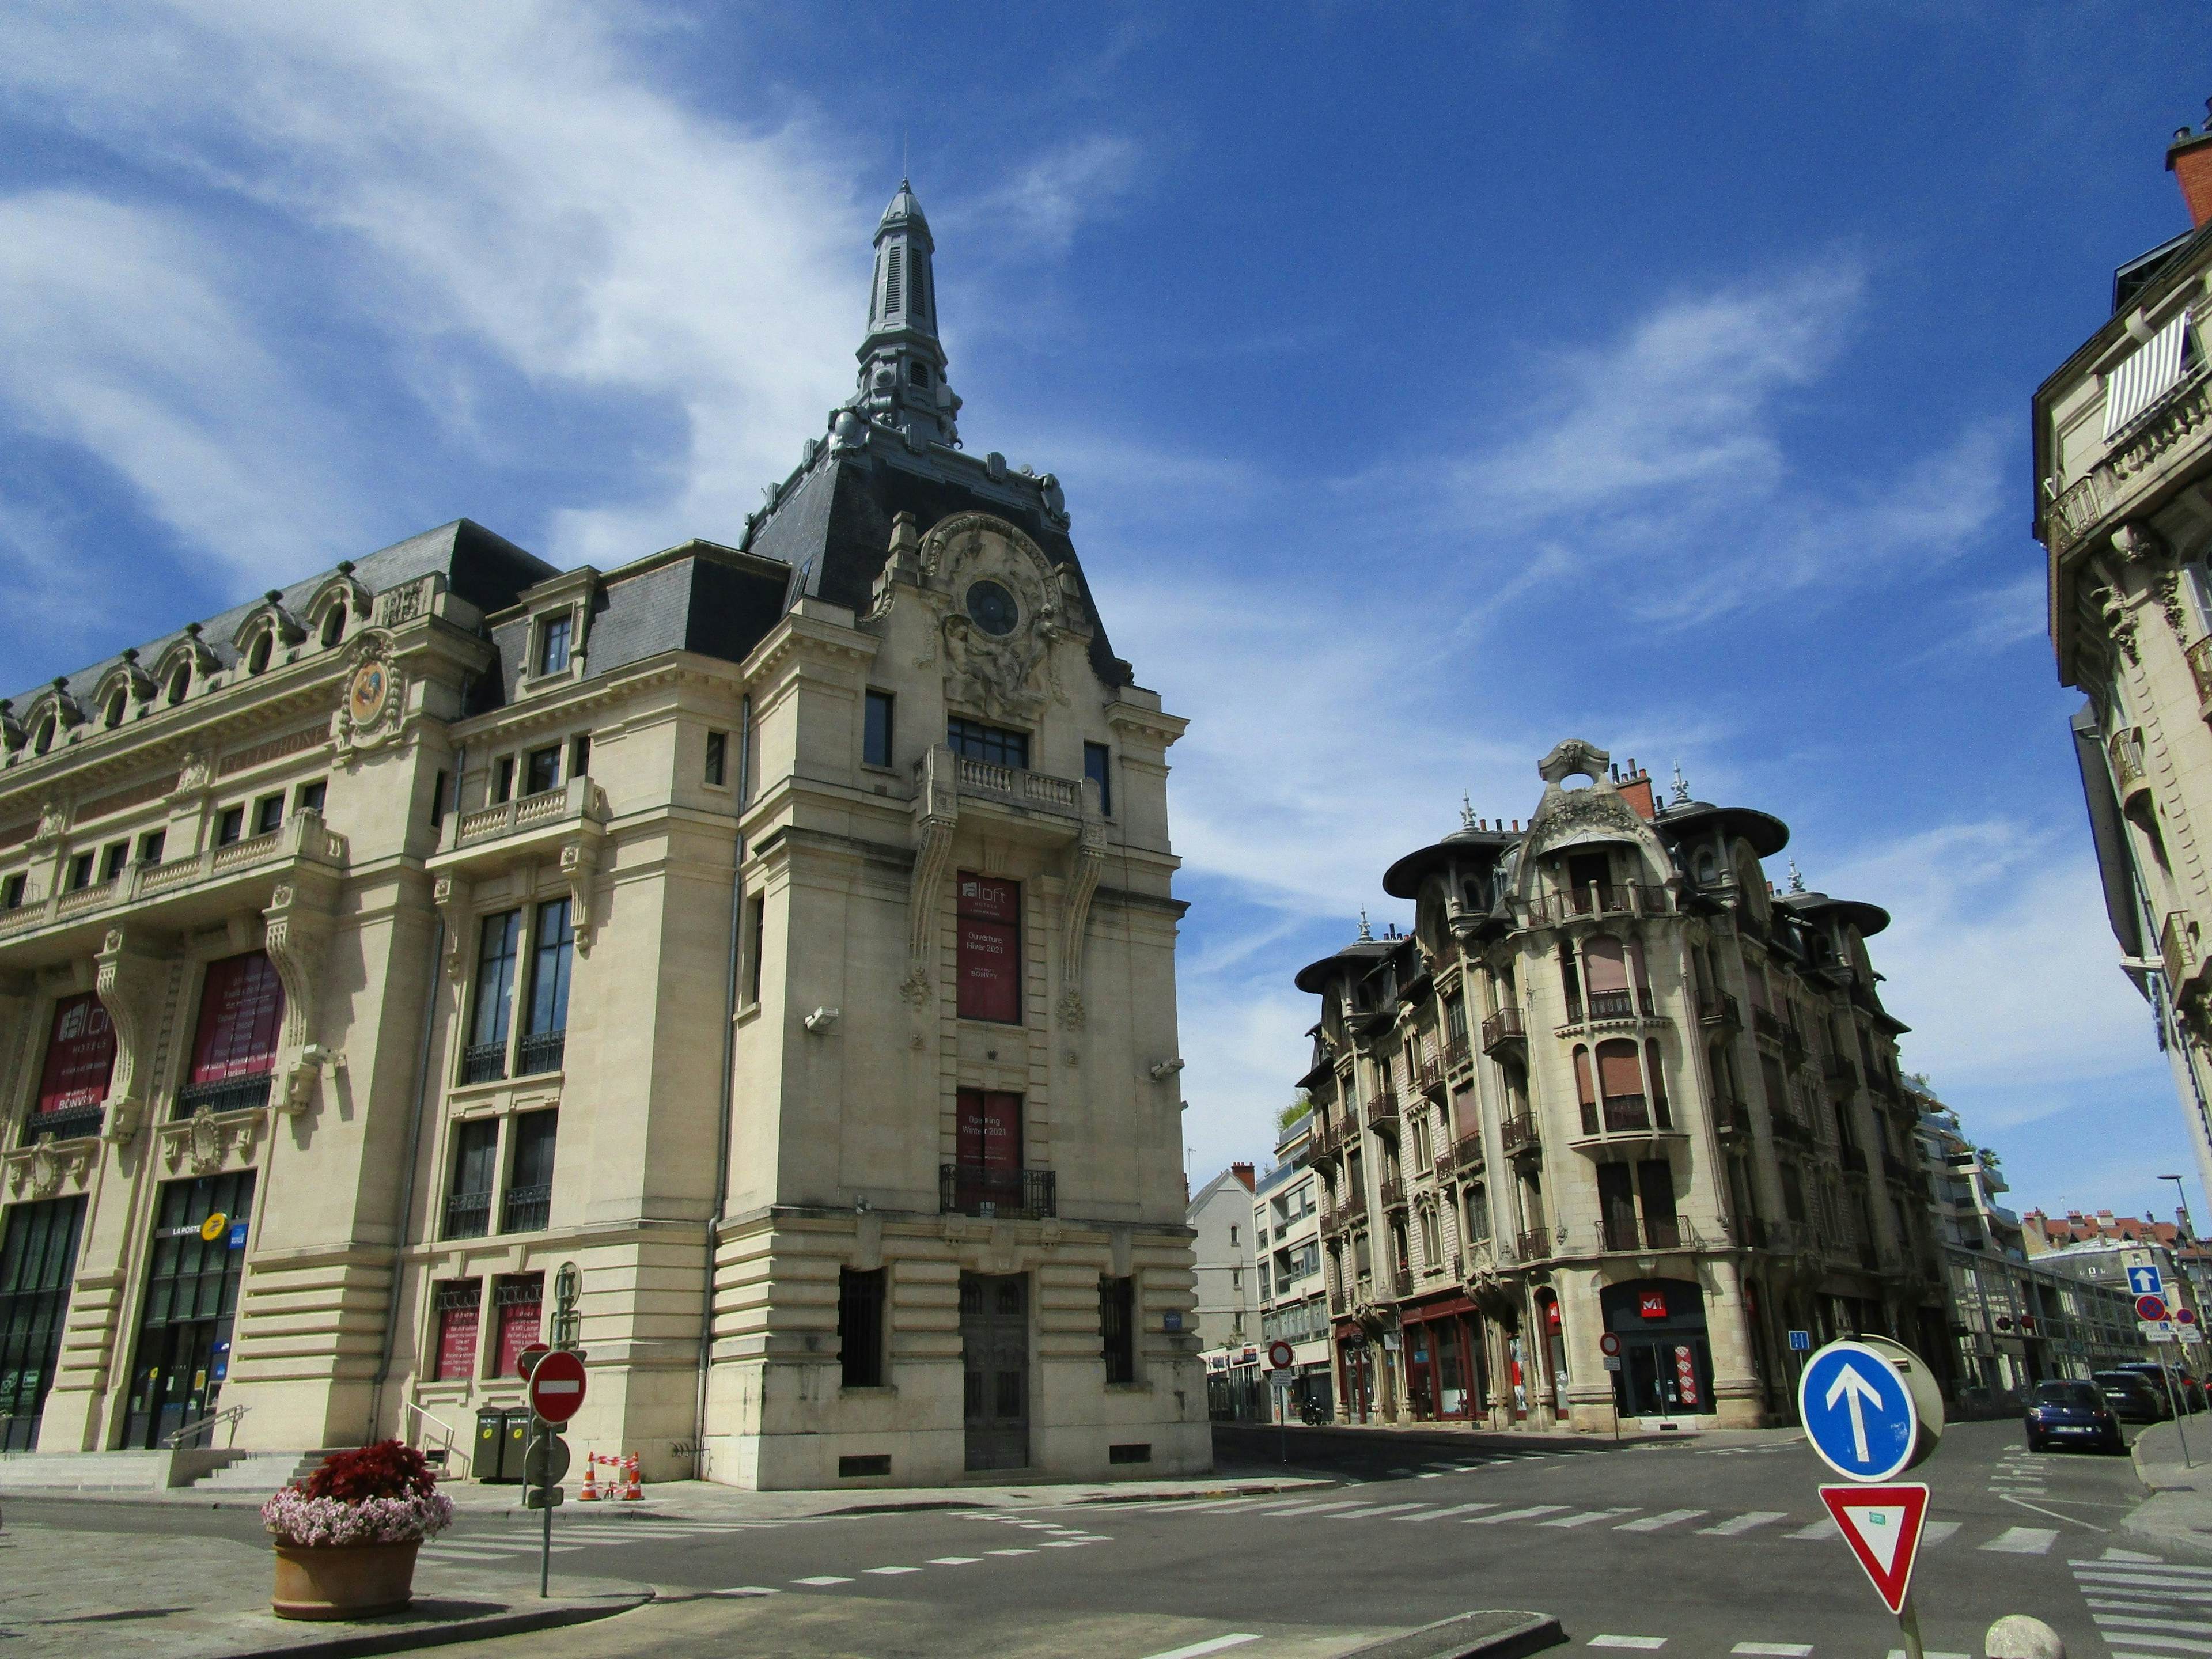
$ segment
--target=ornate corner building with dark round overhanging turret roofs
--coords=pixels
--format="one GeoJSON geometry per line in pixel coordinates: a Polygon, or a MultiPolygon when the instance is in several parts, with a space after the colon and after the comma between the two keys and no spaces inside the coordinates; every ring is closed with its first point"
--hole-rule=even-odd
{"type": "Polygon", "coordinates": [[[1526,830],[1389,867],[1411,933],[1296,975],[1340,1416],[1765,1425],[1792,1329],[1949,1354],[1889,916],[1772,891],[1765,812],[1582,741],[1540,774],[1526,830]]]}

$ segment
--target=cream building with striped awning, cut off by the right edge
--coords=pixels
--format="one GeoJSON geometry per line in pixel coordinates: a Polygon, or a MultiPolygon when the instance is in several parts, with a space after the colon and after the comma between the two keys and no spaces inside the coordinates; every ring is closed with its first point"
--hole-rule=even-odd
{"type": "Polygon", "coordinates": [[[2212,1190],[2212,122],[2166,166],[2192,228],[2035,392],[2035,535],[2106,914],[2212,1190]]]}

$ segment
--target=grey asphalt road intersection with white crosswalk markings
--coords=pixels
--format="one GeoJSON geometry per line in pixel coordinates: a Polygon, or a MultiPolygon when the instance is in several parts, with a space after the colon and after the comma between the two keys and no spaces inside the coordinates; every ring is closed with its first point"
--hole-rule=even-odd
{"type": "MultiPolygon", "coordinates": [[[[1825,1469],[1803,1442],[1542,1453],[1469,1436],[1374,1436],[1356,1451],[1329,1442],[1325,1431],[1305,1444],[1294,1436],[1296,1458],[1383,1478],[1230,1502],[953,1504],[754,1526],[557,1522],[555,1573],[644,1579],[666,1599],[453,1652],[1290,1659],[1467,1608],[1555,1613],[1568,1632],[1559,1652],[1880,1659],[1898,1648],[1896,1624],[1825,1520],[1825,1469]]],[[[2150,1619],[2146,1646],[2212,1652],[2212,1595],[2192,1599],[2192,1586],[2212,1593],[2212,1571],[2161,1573],[2115,1531],[2141,1500],[2128,1460],[2031,1455],[2017,1425],[1969,1422],[1916,1475],[1931,1486],[1913,1577],[1931,1659],[1978,1655],[2002,1613],[2048,1619],[2075,1659],[2108,1659],[2093,1604],[2124,1606],[2115,1595],[2174,1595],[2179,1613],[2150,1619]],[[2130,1575],[2141,1582],[2124,1584],[2130,1575]]],[[[234,1511],[11,1502],[9,1520],[18,1515],[106,1533],[254,1526],[234,1511]]],[[[538,1568],[522,1520],[465,1520],[425,1548],[438,1557],[511,1562],[518,1579],[538,1568]]]]}

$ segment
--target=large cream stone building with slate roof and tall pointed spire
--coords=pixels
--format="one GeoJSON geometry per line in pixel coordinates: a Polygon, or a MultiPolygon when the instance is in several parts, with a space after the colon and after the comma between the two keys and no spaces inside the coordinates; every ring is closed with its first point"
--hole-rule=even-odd
{"type": "Polygon", "coordinates": [[[905,188],[858,356],[737,544],[449,524],[0,706],[9,1447],[465,1453],[575,1261],[648,1475],[1208,1462],[1181,721],[905,188]]]}

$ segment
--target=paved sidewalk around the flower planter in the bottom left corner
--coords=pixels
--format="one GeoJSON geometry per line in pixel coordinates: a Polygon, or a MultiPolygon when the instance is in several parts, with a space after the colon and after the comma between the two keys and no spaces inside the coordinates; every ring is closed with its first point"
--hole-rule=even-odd
{"type": "Polygon", "coordinates": [[[447,1641],[546,1630],[628,1613],[641,1584],[557,1575],[540,1601],[535,1573],[416,1566],[416,1604],[352,1624],[270,1613],[265,1544],[186,1533],[86,1533],[58,1524],[0,1531],[0,1644],[24,1659],[354,1659],[447,1641]],[[526,1579],[526,1582],[524,1582],[526,1579]]]}

